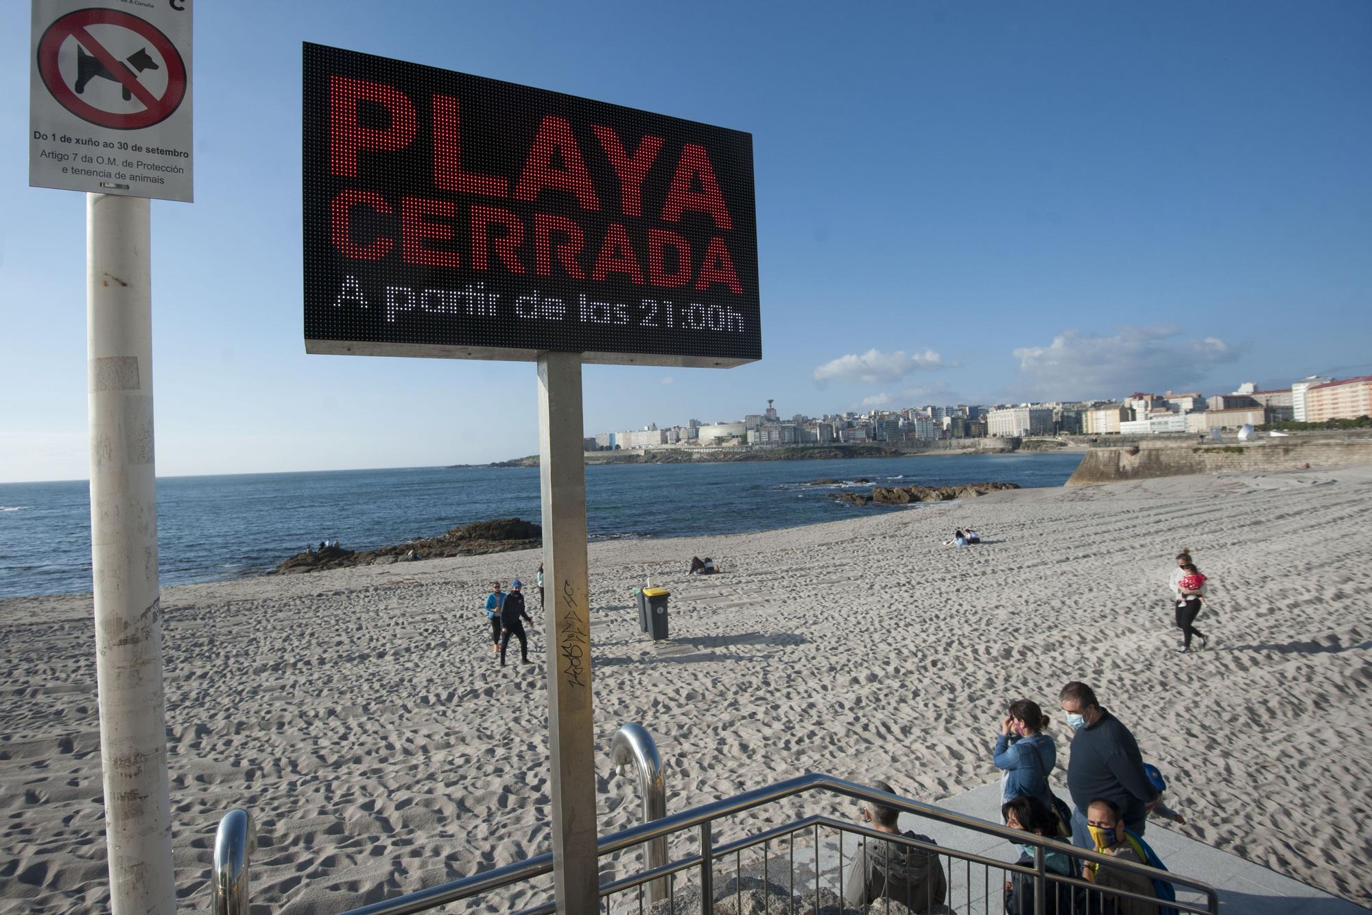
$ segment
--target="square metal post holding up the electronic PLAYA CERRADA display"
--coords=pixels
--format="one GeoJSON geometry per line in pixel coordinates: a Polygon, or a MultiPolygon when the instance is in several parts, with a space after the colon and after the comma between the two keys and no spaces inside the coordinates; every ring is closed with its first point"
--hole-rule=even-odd
{"type": "Polygon", "coordinates": [[[561,915],[600,905],[595,760],[591,721],[591,625],[586,559],[586,458],[582,356],[538,357],[543,609],[547,646],[547,742],[553,771],[553,885],[561,915]]]}

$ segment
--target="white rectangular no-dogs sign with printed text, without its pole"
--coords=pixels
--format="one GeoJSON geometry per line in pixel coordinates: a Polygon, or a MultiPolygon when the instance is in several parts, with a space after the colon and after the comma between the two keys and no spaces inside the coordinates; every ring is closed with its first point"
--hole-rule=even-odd
{"type": "Polygon", "coordinates": [[[192,0],[33,0],[29,184],[193,199],[192,0]]]}

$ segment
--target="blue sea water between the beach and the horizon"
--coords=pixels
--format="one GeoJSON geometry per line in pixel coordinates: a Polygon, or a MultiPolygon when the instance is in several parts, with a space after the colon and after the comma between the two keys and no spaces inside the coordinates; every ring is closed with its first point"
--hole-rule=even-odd
{"type": "MultiPolygon", "coordinates": [[[[900,507],[855,507],[809,481],[1061,486],[1081,455],[622,464],[586,468],[590,533],[689,537],[774,530],[900,507]]],[[[852,486],[864,488],[864,486],[852,486]]],[[[918,511],[918,508],[915,508],[918,511]]],[[[413,467],[158,479],[165,585],[259,574],[306,544],[368,550],[487,518],[539,521],[536,467],[413,467]]],[[[85,481],[0,484],[0,596],[91,589],[85,481]]]]}

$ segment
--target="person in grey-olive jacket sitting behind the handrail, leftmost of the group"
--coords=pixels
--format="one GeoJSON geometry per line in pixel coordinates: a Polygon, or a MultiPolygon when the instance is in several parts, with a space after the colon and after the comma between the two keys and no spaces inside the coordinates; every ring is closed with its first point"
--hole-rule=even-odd
{"type": "MultiPolygon", "coordinates": [[[[895,794],[885,782],[873,782],[871,787],[895,794]]],[[[901,833],[896,826],[900,811],[893,806],[868,802],[863,805],[862,815],[868,826],[881,833],[934,844],[927,835],[901,833]]],[[[947,896],[948,881],[936,853],[870,838],[866,842],[866,853],[862,845],[858,846],[852,870],[848,871],[848,881],[844,883],[844,901],[859,908],[886,897],[912,912],[923,912],[941,905],[947,896]]]]}

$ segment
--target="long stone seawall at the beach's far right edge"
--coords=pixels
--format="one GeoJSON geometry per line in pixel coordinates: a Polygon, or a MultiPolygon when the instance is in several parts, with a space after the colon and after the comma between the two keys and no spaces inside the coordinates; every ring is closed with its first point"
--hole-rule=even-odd
{"type": "Polygon", "coordinates": [[[1185,441],[1139,442],[1120,448],[1092,448],[1081,459],[1069,486],[1184,477],[1188,474],[1250,474],[1276,470],[1329,470],[1372,463],[1372,438],[1301,440],[1261,438],[1233,444],[1185,441]]]}

